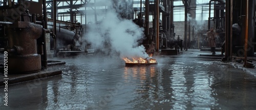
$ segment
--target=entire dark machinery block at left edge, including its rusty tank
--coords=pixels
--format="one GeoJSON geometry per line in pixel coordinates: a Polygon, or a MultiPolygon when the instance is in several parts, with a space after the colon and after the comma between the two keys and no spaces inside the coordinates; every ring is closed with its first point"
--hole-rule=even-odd
{"type": "MultiPolygon", "coordinates": [[[[37,23],[40,11],[29,9],[41,2],[4,1],[0,7],[1,46],[8,52],[8,73],[34,73],[47,68],[46,33],[48,30],[37,23]]],[[[40,9],[41,10],[41,9],[40,9]]]]}

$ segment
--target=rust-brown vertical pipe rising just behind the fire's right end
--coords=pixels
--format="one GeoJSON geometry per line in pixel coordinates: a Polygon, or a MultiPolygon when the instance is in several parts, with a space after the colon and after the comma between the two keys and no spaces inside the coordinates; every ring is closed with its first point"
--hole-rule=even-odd
{"type": "Polygon", "coordinates": [[[159,0],[156,0],[156,52],[159,53],[159,0]]]}

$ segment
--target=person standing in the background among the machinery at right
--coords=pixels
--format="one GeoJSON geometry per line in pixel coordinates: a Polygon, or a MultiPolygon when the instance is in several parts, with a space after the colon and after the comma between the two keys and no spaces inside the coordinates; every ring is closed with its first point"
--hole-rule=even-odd
{"type": "Polygon", "coordinates": [[[210,47],[210,50],[212,52],[212,55],[215,55],[215,31],[214,28],[211,28],[210,31],[206,33],[206,40],[208,41],[208,45],[210,47]]]}

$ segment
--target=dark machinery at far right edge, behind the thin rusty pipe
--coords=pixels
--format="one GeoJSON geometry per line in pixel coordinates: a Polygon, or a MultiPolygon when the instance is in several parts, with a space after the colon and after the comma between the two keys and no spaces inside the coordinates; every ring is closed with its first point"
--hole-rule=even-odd
{"type": "Polygon", "coordinates": [[[256,39],[256,1],[233,0],[232,17],[232,54],[236,56],[254,56],[256,39]],[[248,8],[248,11],[246,9],[248,8]],[[248,25],[246,25],[248,23],[248,25]],[[248,37],[246,38],[246,33],[248,37]],[[247,41],[247,44],[245,43],[247,41]],[[245,50],[245,45],[248,49],[245,50]]]}

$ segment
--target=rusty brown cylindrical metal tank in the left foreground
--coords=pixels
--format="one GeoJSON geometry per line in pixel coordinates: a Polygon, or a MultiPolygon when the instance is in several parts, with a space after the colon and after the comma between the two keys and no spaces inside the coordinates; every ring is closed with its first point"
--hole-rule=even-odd
{"type": "Polygon", "coordinates": [[[7,26],[8,72],[10,74],[34,73],[41,70],[41,56],[37,54],[37,38],[42,36],[42,27],[32,23],[28,10],[20,19],[7,26]]]}

